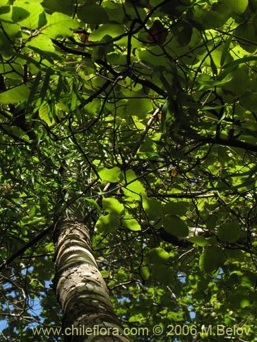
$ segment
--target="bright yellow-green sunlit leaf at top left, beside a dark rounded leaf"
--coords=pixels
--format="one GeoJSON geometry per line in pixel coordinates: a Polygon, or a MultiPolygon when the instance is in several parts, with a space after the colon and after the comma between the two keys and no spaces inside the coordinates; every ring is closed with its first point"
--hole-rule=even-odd
{"type": "Polygon", "coordinates": [[[47,14],[47,25],[41,29],[41,32],[52,39],[66,38],[78,27],[79,24],[73,18],[55,12],[51,15],[47,14]]]}

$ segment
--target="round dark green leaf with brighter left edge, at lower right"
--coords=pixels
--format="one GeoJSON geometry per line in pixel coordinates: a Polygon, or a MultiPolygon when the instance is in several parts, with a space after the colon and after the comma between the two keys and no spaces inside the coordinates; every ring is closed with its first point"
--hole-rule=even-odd
{"type": "Polygon", "coordinates": [[[212,273],[217,271],[226,261],[223,250],[217,246],[209,246],[201,253],[199,267],[201,272],[212,273]]]}

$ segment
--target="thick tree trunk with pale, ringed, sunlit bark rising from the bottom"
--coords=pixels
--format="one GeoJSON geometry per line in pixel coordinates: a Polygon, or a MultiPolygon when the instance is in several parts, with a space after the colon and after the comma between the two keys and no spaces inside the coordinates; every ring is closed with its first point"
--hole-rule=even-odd
{"type": "Polygon", "coordinates": [[[63,312],[64,341],[129,342],[93,257],[88,227],[76,220],[62,220],[54,243],[53,284],[63,312]]]}

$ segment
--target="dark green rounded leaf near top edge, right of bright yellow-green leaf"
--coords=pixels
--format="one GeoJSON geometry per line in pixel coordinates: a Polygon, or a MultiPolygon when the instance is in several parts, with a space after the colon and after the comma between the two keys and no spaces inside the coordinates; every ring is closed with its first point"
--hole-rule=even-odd
{"type": "Polygon", "coordinates": [[[82,5],[79,7],[77,17],[87,24],[109,23],[109,17],[106,10],[101,5],[82,5]]]}

